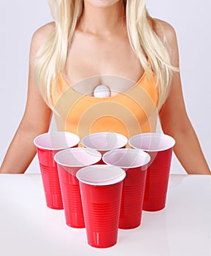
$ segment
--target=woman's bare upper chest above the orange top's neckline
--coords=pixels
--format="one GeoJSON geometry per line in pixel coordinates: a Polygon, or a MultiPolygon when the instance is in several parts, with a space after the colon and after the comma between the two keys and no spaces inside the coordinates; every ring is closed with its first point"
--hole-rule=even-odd
{"type": "Polygon", "coordinates": [[[112,95],[128,90],[143,75],[127,37],[107,39],[75,36],[66,61],[64,78],[81,94],[92,94],[99,84],[112,95]]]}

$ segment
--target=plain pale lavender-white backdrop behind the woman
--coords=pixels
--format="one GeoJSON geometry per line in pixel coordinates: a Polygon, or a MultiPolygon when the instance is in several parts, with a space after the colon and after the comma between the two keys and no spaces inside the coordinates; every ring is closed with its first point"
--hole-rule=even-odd
{"type": "MultiPolygon", "coordinates": [[[[210,0],[148,0],[147,7],[177,32],[185,105],[211,167],[210,0]]],[[[31,36],[51,20],[47,0],[0,1],[0,162],[26,105],[31,36]]],[[[27,172],[39,172],[37,157],[27,172]]],[[[171,172],[185,173],[175,157],[171,172]]]]}

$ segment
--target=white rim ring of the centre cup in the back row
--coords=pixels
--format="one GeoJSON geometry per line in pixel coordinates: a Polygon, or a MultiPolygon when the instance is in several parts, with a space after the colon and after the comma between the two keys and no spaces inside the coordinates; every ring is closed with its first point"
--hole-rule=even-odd
{"type": "MultiPolygon", "coordinates": [[[[122,135],[118,132],[94,132],[94,133],[91,133],[89,135],[86,135],[82,140],[81,140],[81,144],[86,147],[86,148],[92,148],[91,146],[87,146],[86,143],[85,143],[85,140],[88,140],[88,138],[91,138],[91,136],[100,136],[100,135],[109,135],[109,134],[114,134],[116,135],[118,138],[121,138],[123,139],[123,143],[120,143],[120,146],[118,146],[118,148],[123,148],[123,146],[126,146],[126,144],[128,143],[128,138],[126,138],[125,135],[122,135]]],[[[99,151],[110,151],[114,148],[94,148],[96,150],[99,150],[99,151]]]]}

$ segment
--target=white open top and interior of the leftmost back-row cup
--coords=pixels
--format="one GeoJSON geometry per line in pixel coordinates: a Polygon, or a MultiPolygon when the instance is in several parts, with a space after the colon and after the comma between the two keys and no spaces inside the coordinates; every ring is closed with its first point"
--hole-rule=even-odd
{"type": "Polygon", "coordinates": [[[61,150],[77,146],[79,141],[79,136],[72,132],[47,132],[37,136],[34,139],[34,144],[37,148],[61,150]]]}

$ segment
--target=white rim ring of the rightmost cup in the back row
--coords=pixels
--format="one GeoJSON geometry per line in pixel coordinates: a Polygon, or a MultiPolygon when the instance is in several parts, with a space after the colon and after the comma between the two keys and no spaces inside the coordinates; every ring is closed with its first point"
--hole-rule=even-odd
{"type": "Polygon", "coordinates": [[[169,148],[174,147],[175,145],[175,140],[172,138],[170,135],[166,135],[163,133],[158,133],[158,132],[146,132],[146,133],[139,133],[137,135],[132,136],[128,140],[128,145],[131,146],[131,148],[136,148],[136,149],[141,149],[142,151],[147,151],[147,152],[158,152],[158,151],[165,151],[168,150],[169,148]],[[157,149],[149,149],[145,147],[138,147],[133,145],[133,140],[137,140],[138,138],[161,138],[161,139],[168,139],[169,140],[169,146],[165,146],[163,148],[157,148],[157,149]]]}

